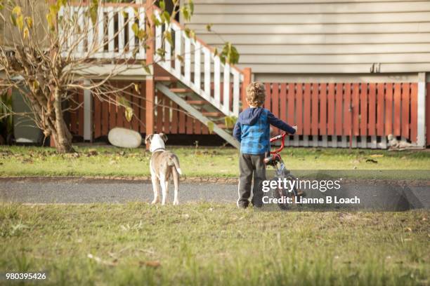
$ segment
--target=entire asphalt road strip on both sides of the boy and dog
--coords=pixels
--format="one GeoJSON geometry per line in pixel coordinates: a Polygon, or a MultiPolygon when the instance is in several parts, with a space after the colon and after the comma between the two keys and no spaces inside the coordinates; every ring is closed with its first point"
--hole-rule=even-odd
{"type": "MultiPolygon", "coordinates": [[[[353,180],[341,191],[306,190],[306,198],[360,198],[352,208],[373,210],[430,210],[430,182],[353,180]]],[[[170,185],[169,201],[173,200],[170,185]]],[[[0,178],[0,200],[17,203],[126,203],[150,202],[152,184],[146,181],[79,178],[0,178]]],[[[179,201],[235,203],[237,184],[181,182],[179,201]]],[[[310,205],[308,205],[310,206],[310,205]]],[[[327,205],[313,205],[327,207],[327,205]]],[[[336,206],[332,207],[336,208],[336,206]]],[[[330,207],[329,207],[330,208],[330,207]]]]}

